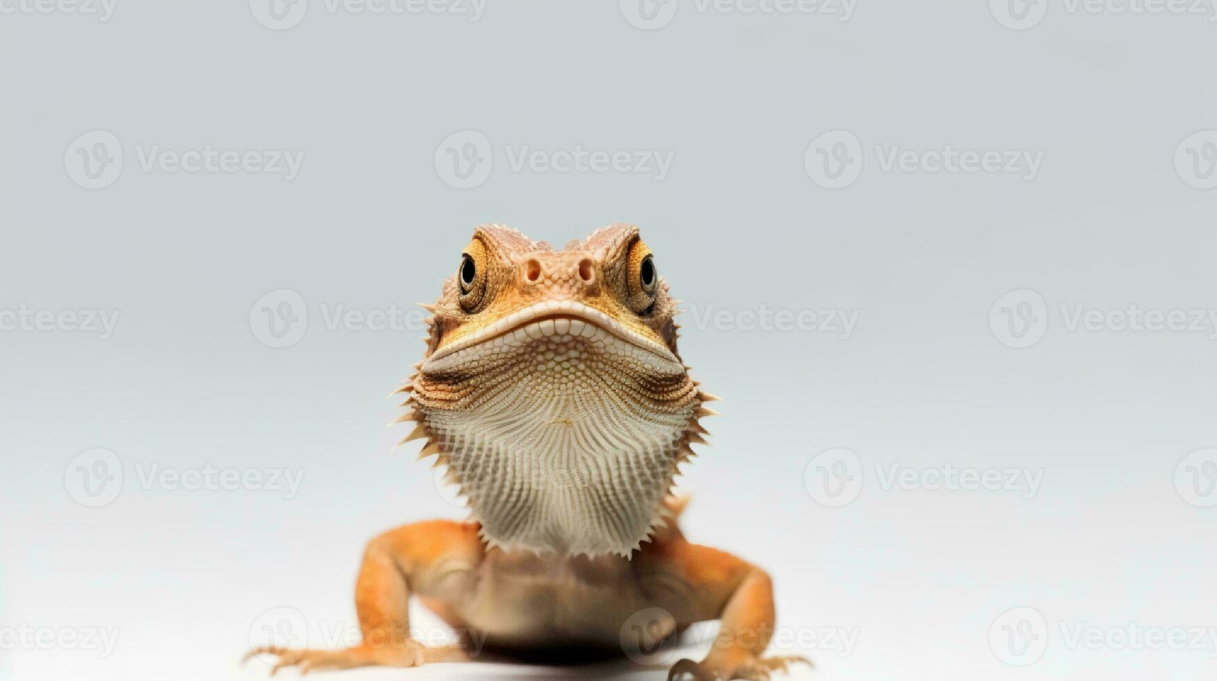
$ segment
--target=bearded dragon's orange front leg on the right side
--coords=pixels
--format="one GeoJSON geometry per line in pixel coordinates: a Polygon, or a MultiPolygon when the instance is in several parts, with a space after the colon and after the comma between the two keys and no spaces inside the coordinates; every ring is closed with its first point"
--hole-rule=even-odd
{"type": "Polygon", "coordinates": [[[683,602],[672,606],[673,613],[679,613],[679,625],[722,620],[706,659],[679,660],[668,672],[668,681],[683,675],[696,681],[768,681],[774,671],[786,671],[792,663],[812,664],[803,657],[761,657],[774,632],[773,582],[764,570],[683,540],[673,541],[657,557],[661,569],[686,586],[683,602]]]}

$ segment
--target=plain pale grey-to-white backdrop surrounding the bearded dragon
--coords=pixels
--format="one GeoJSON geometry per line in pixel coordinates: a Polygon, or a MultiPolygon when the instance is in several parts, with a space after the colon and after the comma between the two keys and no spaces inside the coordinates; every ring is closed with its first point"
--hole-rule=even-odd
{"type": "MultiPolygon", "coordinates": [[[[0,332],[0,627],[119,638],[108,657],[0,649],[0,677],[262,679],[264,665],[237,660],[263,613],[296,608],[314,631],[352,624],[364,542],[461,511],[414,462],[417,444],[391,454],[404,429],[383,427],[421,333],[327,328],[325,315],[434,299],[484,221],[556,246],[638,223],[685,308],[728,313],[727,325],[684,319],[685,361],[724,398],[707,423],[714,446],[682,478],[694,496],[684,525],[770,570],[781,630],[856,632],[847,655],[783,651],[818,664],[792,677],[1145,681],[1217,669],[1211,647],[1092,649],[1062,635],[1217,627],[1217,506],[1204,505],[1217,497],[1189,502],[1176,484],[1189,452],[1217,446],[1217,328],[1067,323],[1078,305],[1217,308],[1217,190],[1198,188],[1207,147],[1179,150],[1217,128],[1207,16],[1054,2],[1011,29],[1000,4],[980,1],[862,0],[840,21],[840,7],[682,0],[657,7],[656,26],[629,1],[498,2],[469,21],[313,0],[275,30],[257,0],[118,0],[108,21],[2,6],[17,11],[0,16],[0,310],[119,317],[105,340],[0,332]],[[123,157],[101,188],[82,186],[77,140],[92,130],[123,157]],[[804,159],[839,130],[860,165],[830,190],[804,159]],[[482,140],[493,163],[455,188],[445,143],[459,153],[482,140]],[[304,157],[290,181],[141,165],[153,147],[206,145],[304,157]],[[948,145],[1042,152],[1042,164],[1031,180],[884,169],[893,146],[948,145]],[[523,147],[554,161],[576,146],[671,153],[672,165],[657,180],[511,164],[523,147]],[[1196,159],[1193,175],[1177,152],[1196,159]],[[280,289],[309,319],[295,345],[274,349],[249,320],[280,289]],[[994,332],[1013,317],[993,308],[1023,289],[1043,300],[1032,308],[1043,336],[1016,349],[994,332]],[[847,338],[741,328],[762,308],[858,321],[847,338]],[[100,508],[66,485],[92,448],[124,474],[100,508]],[[808,489],[821,480],[804,475],[834,448],[853,452],[862,483],[841,507],[820,503],[808,489]],[[152,466],[207,465],[304,478],[291,499],[140,483],[152,466]],[[1043,478],[1030,499],[884,489],[875,465],[1043,478]],[[1027,666],[991,646],[1017,607],[1043,617],[1033,634],[1047,648],[1027,666]]],[[[509,674],[663,679],[628,662],[335,677],[509,674]]]]}

